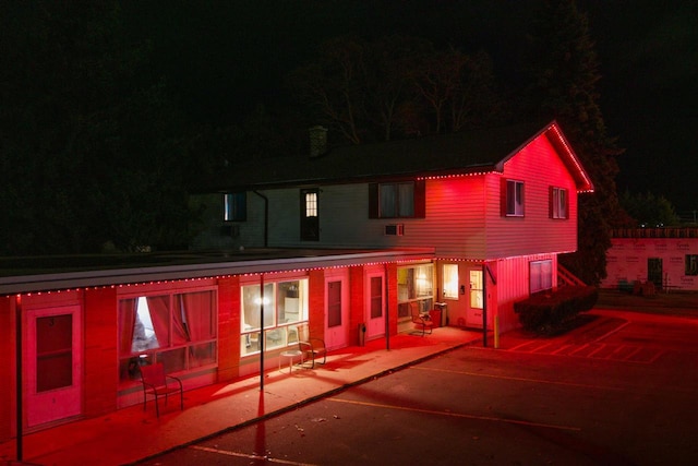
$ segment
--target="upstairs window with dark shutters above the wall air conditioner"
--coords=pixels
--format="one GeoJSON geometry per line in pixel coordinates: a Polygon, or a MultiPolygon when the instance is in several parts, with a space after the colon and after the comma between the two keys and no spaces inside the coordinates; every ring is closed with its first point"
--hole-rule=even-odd
{"type": "Polygon", "coordinates": [[[369,218],[424,218],[424,213],[423,180],[369,184],[369,218]]]}

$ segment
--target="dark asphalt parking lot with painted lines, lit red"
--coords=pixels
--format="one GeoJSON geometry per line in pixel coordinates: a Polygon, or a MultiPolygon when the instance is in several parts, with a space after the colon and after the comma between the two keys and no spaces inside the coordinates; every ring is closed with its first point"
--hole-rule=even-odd
{"type": "Polygon", "coordinates": [[[554,338],[462,347],[142,464],[697,464],[698,320],[590,316],[554,338]]]}

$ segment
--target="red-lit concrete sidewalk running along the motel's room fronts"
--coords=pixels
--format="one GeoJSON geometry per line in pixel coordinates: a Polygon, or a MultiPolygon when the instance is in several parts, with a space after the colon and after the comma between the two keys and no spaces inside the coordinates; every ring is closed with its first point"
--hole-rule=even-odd
{"type": "MultiPolygon", "coordinates": [[[[490,336],[491,337],[491,336],[490,336]]],[[[156,418],[153,402],[131,406],[109,415],[79,420],[23,438],[25,464],[124,465],[214,435],[237,426],[294,409],[348,386],[467,344],[481,344],[482,333],[456,327],[435,328],[424,337],[399,334],[368,342],[363,347],[330,351],[326,365],[314,369],[278,369],[269,363],[260,391],[260,377],[216,384],[184,393],[184,410],[179,399],[160,405],[156,418]]],[[[490,346],[492,343],[489,342],[490,346]]],[[[16,442],[0,444],[0,465],[14,464],[16,442]]]]}

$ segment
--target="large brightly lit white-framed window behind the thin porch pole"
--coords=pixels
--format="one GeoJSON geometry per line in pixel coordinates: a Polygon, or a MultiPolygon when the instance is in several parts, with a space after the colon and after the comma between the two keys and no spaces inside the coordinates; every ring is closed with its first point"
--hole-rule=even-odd
{"type": "Polygon", "coordinates": [[[299,326],[308,323],[308,279],[280,280],[241,287],[240,354],[260,353],[260,337],[264,349],[279,349],[298,344],[299,326]],[[264,304],[264,306],[262,306],[264,304]],[[264,315],[262,315],[264,308],[264,315]],[[264,319],[264,328],[262,328],[264,319]]]}

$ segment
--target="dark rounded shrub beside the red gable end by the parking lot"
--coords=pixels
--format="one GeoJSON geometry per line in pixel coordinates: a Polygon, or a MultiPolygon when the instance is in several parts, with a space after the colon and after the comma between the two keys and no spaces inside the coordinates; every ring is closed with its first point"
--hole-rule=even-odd
{"type": "Polygon", "coordinates": [[[580,312],[593,308],[598,298],[599,290],[593,286],[565,286],[515,302],[514,311],[525,330],[550,334],[561,331],[580,312]]]}

